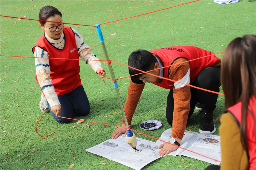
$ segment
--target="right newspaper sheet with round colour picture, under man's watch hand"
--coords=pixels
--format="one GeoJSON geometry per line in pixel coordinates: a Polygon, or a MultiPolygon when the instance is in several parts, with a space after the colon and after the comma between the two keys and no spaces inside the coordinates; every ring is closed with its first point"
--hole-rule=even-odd
{"type": "MultiPolygon", "coordinates": [[[[172,129],[167,129],[162,133],[160,140],[169,142],[171,139],[171,135],[172,135],[172,129]]],[[[156,144],[161,145],[162,143],[164,142],[159,140],[156,141],[156,144]]],[[[178,148],[177,150],[169,153],[168,155],[173,155],[173,156],[183,155],[183,156],[191,157],[191,158],[205,161],[215,165],[220,164],[220,162],[218,162],[218,161],[221,161],[220,136],[204,135],[201,133],[191,132],[186,130],[182,140],[180,141],[180,147],[181,148],[178,148]],[[199,153],[201,155],[210,157],[218,161],[214,161],[212,159],[184,150],[182,148],[199,153]]]]}

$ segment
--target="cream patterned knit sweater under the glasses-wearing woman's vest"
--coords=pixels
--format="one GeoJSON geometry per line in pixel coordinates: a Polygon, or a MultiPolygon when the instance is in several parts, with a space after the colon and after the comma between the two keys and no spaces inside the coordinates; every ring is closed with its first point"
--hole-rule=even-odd
{"type": "MultiPolygon", "coordinates": [[[[78,54],[82,59],[92,59],[92,60],[85,60],[86,64],[89,64],[89,66],[96,72],[98,68],[101,68],[100,61],[93,61],[93,60],[99,60],[92,52],[91,48],[86,45],[83,42],[83,37],[74,29],[71,28],[74,32],[75,39],[76,39],[76,46],[78,49],[78,54]]],[[[65,39],[64,34],[62,33],[60,39],[53,40],[49,38],[49,36],[45,33],[46,39],[54,45],[56,48],[62,49],[65,45],[65,39]]],[[[47,51],[42,50],[42,48],[39,48],[38,46],[35,48],[34,53],[35,58],[35,65],[36,65],[36,75],[37,79],[40,85],[40,88],[43,89],[44,95],[50,104],[50,106],[59,105],[59,99],[58,96],[54,90],[53,86],[49,86],[52,84],[52,80],[50,77],[50,66],[49,66],[49,54],[47,51]],[[41,58],[44,57],[44,58],[41,58]],[[44,88],[46,87],[46,88],[44,88]]]]}

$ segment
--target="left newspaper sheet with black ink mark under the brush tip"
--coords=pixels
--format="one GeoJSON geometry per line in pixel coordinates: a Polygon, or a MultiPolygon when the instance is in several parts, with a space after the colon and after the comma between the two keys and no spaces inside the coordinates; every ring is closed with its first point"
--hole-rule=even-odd
{"type": "Polygon", "coordinates": [[[126,136],[122,134],[116,139],[106,140],[92,148],[86,149],[96,155],[129,166],[133,169],[141,169],[150,162],[160,158],[158,156],[159,144],[137,138],[136,150],[127,143],[126,136]]]}

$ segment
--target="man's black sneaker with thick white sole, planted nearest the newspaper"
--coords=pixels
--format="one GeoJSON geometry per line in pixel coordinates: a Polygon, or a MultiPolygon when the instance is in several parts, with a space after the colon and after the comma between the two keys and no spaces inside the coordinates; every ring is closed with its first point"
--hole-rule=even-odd
{"type": "Polygon", "coordinates": [[[199,132],[202,134],[212,134],[216,131],[213,112],[207,112],[202,110],[200,113],[200,129],[199,132]]]}

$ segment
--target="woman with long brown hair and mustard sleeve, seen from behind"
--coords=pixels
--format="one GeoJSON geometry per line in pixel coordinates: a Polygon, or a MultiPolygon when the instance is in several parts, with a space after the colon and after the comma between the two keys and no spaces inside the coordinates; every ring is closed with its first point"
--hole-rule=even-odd
{"type": "Polygon", "coordinates": [[[220,169],[256,169],[256,35],[227,46],[221,83],[226,112],[220,118],[220,169]]]}

